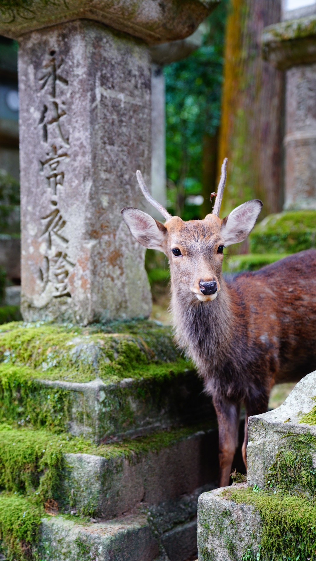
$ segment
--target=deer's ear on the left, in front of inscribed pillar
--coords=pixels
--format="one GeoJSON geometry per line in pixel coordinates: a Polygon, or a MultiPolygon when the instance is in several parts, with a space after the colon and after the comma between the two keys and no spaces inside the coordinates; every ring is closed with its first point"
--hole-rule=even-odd
{"type": "Polygon", "coordinates": [[[164,224],[142,210],[125,208],[121,210],[124,222],[134,238],[148,249],[164,251],[167,229],[164,224]]]}

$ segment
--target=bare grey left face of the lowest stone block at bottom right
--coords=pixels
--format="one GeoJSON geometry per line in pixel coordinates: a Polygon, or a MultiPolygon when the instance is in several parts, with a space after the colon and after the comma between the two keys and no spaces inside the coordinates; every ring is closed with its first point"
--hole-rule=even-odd
{"type": "MultiPolygon", "coordinates": [[[[246,486],[238,484],[237,487],[246,486]]],[[[254,507],[223,498],[220,488],[198,498],[198,561],[236,561],[258,549],[262,521],[254,507]]]]}

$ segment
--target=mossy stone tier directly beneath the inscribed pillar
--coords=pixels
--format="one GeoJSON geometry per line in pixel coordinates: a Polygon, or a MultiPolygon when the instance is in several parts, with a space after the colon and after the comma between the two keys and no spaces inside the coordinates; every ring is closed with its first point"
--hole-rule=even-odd
{"type": "Polygon", "coordinates": [[[12,323],[0,330],[0,421],[96,442],[214,419],[170,328],[12,323]]]}

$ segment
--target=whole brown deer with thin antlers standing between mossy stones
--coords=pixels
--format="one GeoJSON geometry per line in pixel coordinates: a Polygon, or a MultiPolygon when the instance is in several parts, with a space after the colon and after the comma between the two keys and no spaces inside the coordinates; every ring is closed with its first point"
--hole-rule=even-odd
{"type": "Polygon", "coordinates": [[[268,409],[276,383],[299,381],[316,369],[316,250],[287,256],[255,272],[224,278],[224,247],[246,239],[263,203],[250,200],[219,218],[227,177],[225,158],[213,213],[184,222],[139,187],[165,218],[162,224],[135,208],[121,210],[146,248],[168,257],[175,340],[186,350],[212,397],[218,419],[219,486],[230,481],[245,407],[242,458],[247,469],[247,421],[268,409]]]}

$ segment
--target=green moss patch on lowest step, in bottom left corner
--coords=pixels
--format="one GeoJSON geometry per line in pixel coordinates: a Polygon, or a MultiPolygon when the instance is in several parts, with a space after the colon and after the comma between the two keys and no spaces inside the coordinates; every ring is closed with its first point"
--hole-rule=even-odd
{"type": "Polygon", "coordinates": [[[0,494],[0,548],[7,561],[30,559],[43,511],[18,494],[0,494]]]}

